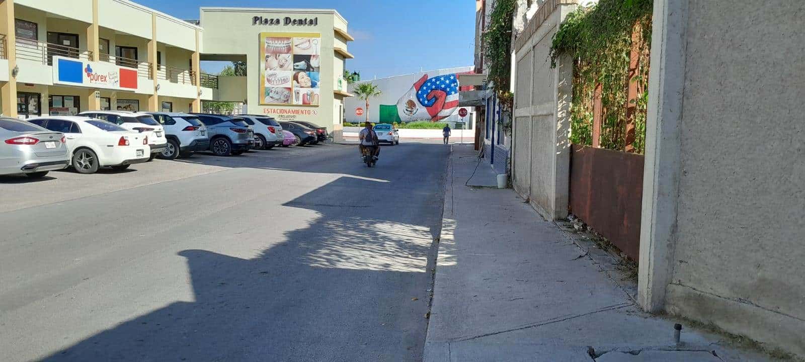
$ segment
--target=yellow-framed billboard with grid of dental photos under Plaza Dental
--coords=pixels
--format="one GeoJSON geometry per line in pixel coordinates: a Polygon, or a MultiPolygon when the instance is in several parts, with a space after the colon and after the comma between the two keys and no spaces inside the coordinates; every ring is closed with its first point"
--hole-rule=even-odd
{"type": "Polygon", "coordinates": [[[319,105],[320,33],[260,33],[260,104],[319,105]]]}

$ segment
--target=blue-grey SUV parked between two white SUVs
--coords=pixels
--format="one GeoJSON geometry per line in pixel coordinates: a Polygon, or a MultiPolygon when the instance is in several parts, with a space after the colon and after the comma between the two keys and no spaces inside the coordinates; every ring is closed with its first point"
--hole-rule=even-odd
{"type": "Polygon", "coordinates": [[[207,127],[209,150],[217,156],[242,154],[254,147],[254,131],[243,118],[221,114],[190,113],[207,127]]]}

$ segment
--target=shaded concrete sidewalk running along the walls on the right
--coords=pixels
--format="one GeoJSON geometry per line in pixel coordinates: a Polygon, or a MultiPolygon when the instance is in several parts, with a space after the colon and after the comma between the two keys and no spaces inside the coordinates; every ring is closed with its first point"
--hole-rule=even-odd
{"type": "Polygon", "coordinates": [[[511,189],[489,188],[488,161],[464,186],[476,151],[452,147],[425,362],[768,360],[687,325],[675,348],[679,321],[642,313],[602,271],[611,265],[511,189]]]}

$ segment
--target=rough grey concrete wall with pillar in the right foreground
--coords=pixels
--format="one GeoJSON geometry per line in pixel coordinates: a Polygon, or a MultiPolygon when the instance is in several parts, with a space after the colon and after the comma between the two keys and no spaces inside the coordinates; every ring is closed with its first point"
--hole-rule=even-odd
{"type": "Polygon", "coordinates": [[[639,300],[805,356],[802,14],[654,3],[639,300]]]}

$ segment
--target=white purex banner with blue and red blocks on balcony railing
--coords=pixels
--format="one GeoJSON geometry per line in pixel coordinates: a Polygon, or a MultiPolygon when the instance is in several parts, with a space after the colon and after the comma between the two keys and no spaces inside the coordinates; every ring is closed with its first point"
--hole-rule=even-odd
{"type": "Polygon", "coordinates": [[[137,69],[54,56],[53,83],[92,88],[137,89],[137,69]]]}

